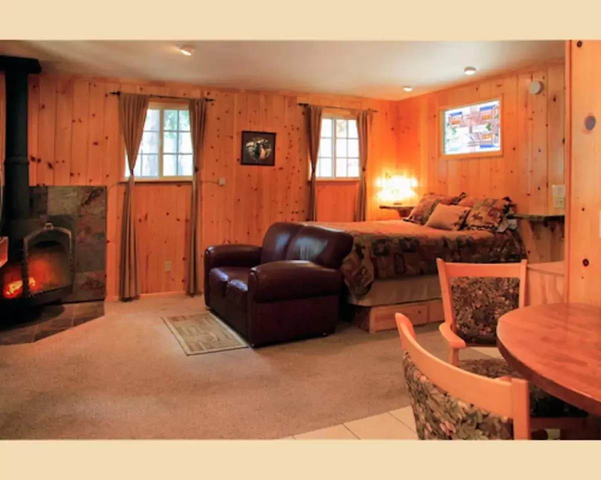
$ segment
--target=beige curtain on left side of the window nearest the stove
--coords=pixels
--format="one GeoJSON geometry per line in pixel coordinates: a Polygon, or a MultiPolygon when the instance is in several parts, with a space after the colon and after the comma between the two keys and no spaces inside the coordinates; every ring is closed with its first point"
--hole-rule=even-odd
{"type": "Polygon", "coordinates": [[[129,181],[125,189],[123,226],[121,228],[119,296],[122,301],[136,299],[140,295],[136,223],[133,219],[133,184],[135,182],[133,168],[138,160],[147,110],[147,96],[123,93],[119,95],[119,123],[123,133],[129,166],[129,181]]]}

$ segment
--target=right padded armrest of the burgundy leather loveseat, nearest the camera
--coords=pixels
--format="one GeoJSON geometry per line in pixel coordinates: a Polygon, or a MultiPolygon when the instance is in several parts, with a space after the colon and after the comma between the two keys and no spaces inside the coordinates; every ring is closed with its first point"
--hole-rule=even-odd
{"type": "Polygon", "coordinates": [[[282,260],[251,268],[248,277],[249,300],[268,302],[340,295],[340,270],[304,260],[282,260]]]}

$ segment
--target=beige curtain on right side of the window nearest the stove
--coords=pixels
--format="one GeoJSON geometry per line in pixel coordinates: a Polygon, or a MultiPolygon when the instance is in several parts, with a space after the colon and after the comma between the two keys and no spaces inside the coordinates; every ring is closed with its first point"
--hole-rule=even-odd
{"type": "Polygon", "coordinates": [[[188,255],[186,256],[186,293],[194,296],[200,286],[200,254],[198,252],[198,232],[201,220],[198,205],[198,183],[203,166],[203,142],[207,124],[207,102],[204,98],[190,100],[190,131],[192,151],[194,152],[194,173],[192,174],[192,206],[190,211],[190,228],[188,230],[188,255]]]}

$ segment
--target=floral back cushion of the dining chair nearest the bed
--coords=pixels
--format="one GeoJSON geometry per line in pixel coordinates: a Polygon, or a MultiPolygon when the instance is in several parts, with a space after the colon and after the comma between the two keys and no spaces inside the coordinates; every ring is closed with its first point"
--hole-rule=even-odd
{"type": "Polygon", "coordinates": [[[450,278],[457,335],[495,345],[499,317],[519,307],[519,278],[450,278]]]}

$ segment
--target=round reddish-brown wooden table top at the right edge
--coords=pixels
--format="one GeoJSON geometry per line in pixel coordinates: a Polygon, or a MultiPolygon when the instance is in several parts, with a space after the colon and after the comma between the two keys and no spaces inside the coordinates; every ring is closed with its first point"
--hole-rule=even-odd
{"type": "Polygon", "coordinates": [[[601,308],[548,304],[518,308],[497,325],[501,355],[529,382],[601,416],[601,308]]]}

